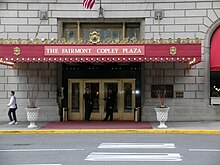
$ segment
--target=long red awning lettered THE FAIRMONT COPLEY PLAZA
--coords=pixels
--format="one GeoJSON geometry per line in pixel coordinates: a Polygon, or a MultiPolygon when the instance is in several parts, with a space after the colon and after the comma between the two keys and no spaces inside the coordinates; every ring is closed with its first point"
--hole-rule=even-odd
{"type": "Polygon", "coordinates": [[[5,62],[201,61],[201,44],[0,44],[5,62]]]}

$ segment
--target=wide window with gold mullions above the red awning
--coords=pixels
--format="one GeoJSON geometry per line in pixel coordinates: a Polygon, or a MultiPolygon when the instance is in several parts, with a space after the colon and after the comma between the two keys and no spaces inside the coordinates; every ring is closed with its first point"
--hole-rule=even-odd
{"type": "Polygon", "coordinates": [[[93,31],[100,34],[101,41],[122,39],[123,37],[140,38],[139,23],[80,23],[79,26],[77,23],[63,24],[63,37],[67,40],[82,38],[84,41],[89,41],[90,33],[93,31]]]}

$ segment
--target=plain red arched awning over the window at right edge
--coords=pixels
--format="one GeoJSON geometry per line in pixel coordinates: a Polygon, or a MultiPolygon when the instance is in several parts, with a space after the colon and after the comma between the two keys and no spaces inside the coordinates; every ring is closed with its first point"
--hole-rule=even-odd
{"type": "Polygon", "coordinates": [[[220,27],[215,31],[211,40],[211,53],[210,53],[210,70],[220,70],[220,27]]]}

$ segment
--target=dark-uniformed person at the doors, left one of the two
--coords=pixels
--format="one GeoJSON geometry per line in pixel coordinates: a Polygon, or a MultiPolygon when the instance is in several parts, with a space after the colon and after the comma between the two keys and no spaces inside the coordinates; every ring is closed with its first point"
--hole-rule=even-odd
{"type": "Polygon", "coordinates": [[[90,121],[90,116],[93,109],[93,101],[91,96],[91,89],[89,87],[85,88],[83,98],[85,100],[85,121],[90,121]]]}

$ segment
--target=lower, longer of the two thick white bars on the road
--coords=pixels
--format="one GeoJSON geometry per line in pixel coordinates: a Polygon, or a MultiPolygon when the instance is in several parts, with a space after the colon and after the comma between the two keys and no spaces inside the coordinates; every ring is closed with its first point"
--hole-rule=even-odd
{"type": "Polygon", "coordinates": [[[179,153],[111,153],[92,152],[87,161],[182,161],[179,153]]]}

